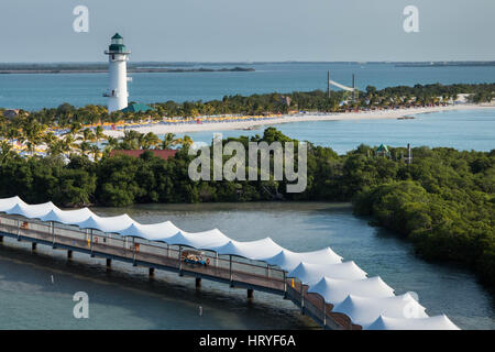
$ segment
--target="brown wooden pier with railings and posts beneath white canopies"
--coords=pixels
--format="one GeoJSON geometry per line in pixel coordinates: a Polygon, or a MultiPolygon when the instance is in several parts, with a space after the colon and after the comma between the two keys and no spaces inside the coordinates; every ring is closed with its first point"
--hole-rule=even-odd
{"type": "Polygon", "coordinates": [[[326,304],[320,295],[307,293],[307,285],[301,285],[297,278],[286,277],[285,271],[264,262],[232,255],[219,256],[215,252],[205,251],[208,265],[188,264],[180,260],[183,251],[188,249],[180,245],[122,238],[119,234],[81,230],[77,227],[42,222],[20,216],[0,216],[0,242],[3,237],[29,241],[33,251],[37,244],[67,250],[68,258],[72,258],[73,252],[107,258],[107,267],[111,266],[112,261],[120,261],[148,267],[151,276],[155,270],[175,272],[179,276],[193,276],[196,277],[197,288],[200,287],[201,279],[209,279],[230,287],[244,288],[249,298],[253,298],[254,290],[278,295],[292,300],[300,308],[302,315],[307,315],[323,329],[361,329],[360,326],[353,324],[348,316],[332,312],[332,305],[326,304]]]}

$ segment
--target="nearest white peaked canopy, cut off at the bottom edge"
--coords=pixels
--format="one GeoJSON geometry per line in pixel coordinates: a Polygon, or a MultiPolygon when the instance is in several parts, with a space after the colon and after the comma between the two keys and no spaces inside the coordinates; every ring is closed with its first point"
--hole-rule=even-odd
{"type": "Polygon", "coordinates": [[[446,315],[407,319],[378,317],[369,330],[460,330],[446,315]]]}

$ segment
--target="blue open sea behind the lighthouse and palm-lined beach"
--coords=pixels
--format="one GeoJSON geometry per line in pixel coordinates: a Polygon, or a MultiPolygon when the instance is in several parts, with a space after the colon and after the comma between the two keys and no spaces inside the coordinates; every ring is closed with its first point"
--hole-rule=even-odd
{"type": "MultiPolygon", "coordinates": [[[[258,63],[196,64],[195,67],[253,67],[252,73],[163,73],[130,74],[130,101],[144,103],[167,100],[211,100],[227,95],[292,92],[327,89],[327,70],[331,78],[350,86],[356,75],[360,89],[366,86],[444,85],[457,82],[493,82],[491,67],[396,67],[394,64],[338,63],[258,63]]],[[[0,75],[0,107],[38,110],[63,102],[75,106],[106,105],[102,97],[107,74],[0,75]]]]}

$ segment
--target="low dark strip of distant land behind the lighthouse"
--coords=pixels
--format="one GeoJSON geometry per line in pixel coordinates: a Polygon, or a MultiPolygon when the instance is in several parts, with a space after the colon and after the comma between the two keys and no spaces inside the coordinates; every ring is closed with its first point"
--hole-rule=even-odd
{"type": "MultiPolygon", "coordinates": [[[[129,64],[129,73],[232,73],[254,72],[252,67],[194,67],[166,63],[129,64]],[[183,66],[183,67],[180,67],[183,66]]],[[[107,73],[108,64],[0,64],[0,74],[98,74],[107,73]]]]}

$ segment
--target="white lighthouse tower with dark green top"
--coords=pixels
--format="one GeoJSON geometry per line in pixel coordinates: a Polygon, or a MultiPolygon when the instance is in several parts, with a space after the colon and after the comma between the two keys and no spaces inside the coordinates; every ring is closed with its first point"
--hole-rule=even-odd
{"type": "Polygon", "coordinates": [[[128,107],[128,59],[129,52],[123,44],[123,37],[117,33],[105,52],[109,57],[110,85],[105,97],[108,97],[108,112],[119,111],[128,107]]]}

